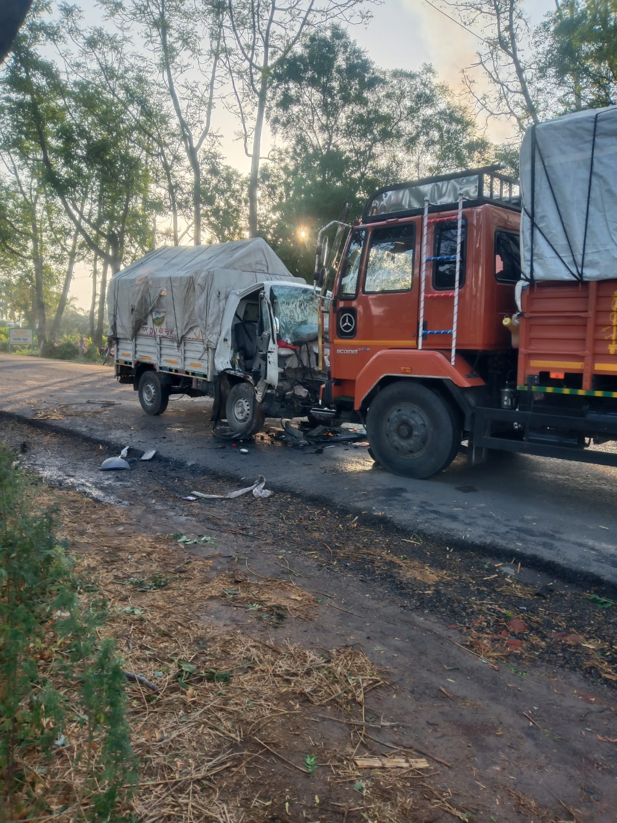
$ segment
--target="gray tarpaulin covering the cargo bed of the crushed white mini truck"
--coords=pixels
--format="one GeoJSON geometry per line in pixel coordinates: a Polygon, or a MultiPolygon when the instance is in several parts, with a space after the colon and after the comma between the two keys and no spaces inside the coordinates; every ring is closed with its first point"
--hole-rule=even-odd
{"type": "Polygon", "coordinates": [[[157,249],[112,277],[107,293],[111,336],[132,340],[155,311],[175,342],[197,326],[206,348],[216,348],[225,302],[253,283],[293,277],[265,240],[157,249]]]}

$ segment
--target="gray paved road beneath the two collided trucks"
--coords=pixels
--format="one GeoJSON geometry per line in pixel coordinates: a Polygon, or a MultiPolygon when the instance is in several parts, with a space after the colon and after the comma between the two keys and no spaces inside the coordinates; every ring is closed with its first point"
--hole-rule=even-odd
{"type": "Polygon", "coordinates": [[[137,393],[116,384],[109,368],[0,354],[1,411],[157,449],[205,472],[263,474],[274,488],[318,495],[437,537],[444,551],[448,544],[469,542],[499,556],[512,551],[523,562],[617,584],[615,468],[499,455],[470,469],[459,457],[438,477],[406,480],[374,467],[365,449],[354,446],[315,454],[264,436],[241,454],[212,439],[210,408],[204,399],[172,398],[164,415],[149,417],[137,393]],[[114,405],[101,407],[101,401],[114,405]]]}

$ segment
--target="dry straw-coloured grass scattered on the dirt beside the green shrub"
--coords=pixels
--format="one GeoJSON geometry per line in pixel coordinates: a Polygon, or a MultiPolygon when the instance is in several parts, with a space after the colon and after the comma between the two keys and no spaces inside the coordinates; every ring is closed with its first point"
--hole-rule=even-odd
{"type": "MultiPolygon", "coordinates": [[[[46,491],[41,500],[59,502],[63,534],[78,552],[77,571],[109,602],[101,636],[113,636],[126,670],[156,687],[128,685],[140,762],[131,810],[140,821],[257,823],[306,813],[309,820],[402,823],[416,807],[427,808],[428,789],[418,792],[428,784],[419,772],[354,765],[355,755],[369,751],[370,732],[381,728],[366,719],[365,701],[387,681],[369,658],[349,646],[304,648],[276,640],[277,621],[268,614],[310,620],[318,606],[312,593],[248,565],[212,574],[211,557],[143,533],[122,507],[66,491],[46,491]],[[202,617],[212,600],[265,619],[253,621],[253,635],[221,632],[202,617]],[[266,636],[255,636],[260,632],[266,636]],[[308,751],[318,760],[315,774],[306,765],[308,751]],[[354,788],[359,782],[361,790],[354,788]]],[[[206,551],[216,556],[217,548],[211,542],[206,551]]],[[[39,793],[54,797],[50,819],[61,823],[76,811],[81,775],[75,756],[86,744],[77,720],[65,734],[68,746],[58,750],[53,767],[33,778],[39,793]]],[[[33,755],[26,769],[34,767],[33,755]]]]}

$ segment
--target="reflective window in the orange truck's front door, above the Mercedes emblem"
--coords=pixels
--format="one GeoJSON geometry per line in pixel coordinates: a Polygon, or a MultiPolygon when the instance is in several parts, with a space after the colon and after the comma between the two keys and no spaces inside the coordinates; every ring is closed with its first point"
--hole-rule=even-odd
{"type": "Polygon", "coordinates": [[[409,291],[414,282],[415,225],[373,229],[364,291],[409,291]]]}

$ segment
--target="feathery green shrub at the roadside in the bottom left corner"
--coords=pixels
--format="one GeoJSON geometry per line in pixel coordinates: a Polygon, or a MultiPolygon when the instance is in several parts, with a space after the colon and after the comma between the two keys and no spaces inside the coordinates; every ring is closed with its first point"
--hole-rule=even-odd
{"type": "Polygon", "coordinates": [[[46,758],[53,786],[69,718],[80,718],[84,739],[63,751],[78,775],[67,815],[74,807],[76,817],[118,819],[131,791],[123,786],[137,782],[122,660],[96,633],[105,604],[80,602],[77,589],[53,512],[39,509],[35,487],[0,444],[0,820],[49,814],[53,797],[35,791],[25,759],[46,758]]]}

